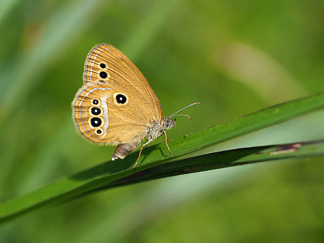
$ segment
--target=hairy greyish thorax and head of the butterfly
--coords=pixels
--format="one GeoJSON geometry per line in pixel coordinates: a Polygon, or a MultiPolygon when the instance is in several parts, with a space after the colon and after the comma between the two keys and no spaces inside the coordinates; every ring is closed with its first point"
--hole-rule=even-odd
{"type": "Polygon", "coordinates": [[[169,117],[162,117],[159,122],[154,121],[151,126],[146,128],[146,137],[148,140],[153,141],[163,135],[166,130],[172,129],[174,126],[176,126],[176,119],[171,120],[169,117]]]}

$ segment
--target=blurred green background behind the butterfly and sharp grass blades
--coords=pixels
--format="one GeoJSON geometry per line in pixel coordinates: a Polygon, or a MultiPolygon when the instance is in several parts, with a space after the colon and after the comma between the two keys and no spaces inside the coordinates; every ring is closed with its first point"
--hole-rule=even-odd
{"type": "MultiPolygon", "coordinates": [[[[323,1],[0,5],[2,200],[111,157],[71,120],[98,43],[137,65],[165,115],[201,103],[169,139],[324,90],[323,1]]],[[[323,124],[317,111],[199,153],[320,139],[323,124]]],[[[0,241],[323,242],[323,170],[323,157],[281,160],[114,188],[2,224],[0,241]]]]}

